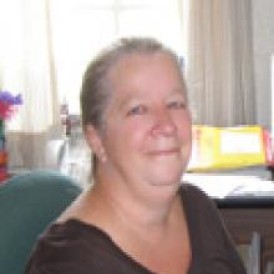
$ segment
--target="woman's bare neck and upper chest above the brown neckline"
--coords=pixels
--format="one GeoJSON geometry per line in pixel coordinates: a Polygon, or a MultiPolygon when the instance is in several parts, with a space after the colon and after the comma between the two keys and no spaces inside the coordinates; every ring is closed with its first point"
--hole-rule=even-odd
{"type": "Polygon", "coordinates": [[[168,269],[169,273],[186,273],[191,248],[180,196],[174,195],[156,208],[155,203],[148,207],[149,203],[132,201],[118,194],[118,191],[106,191],[100,183],[94,187],[90,199],[98,218],[92,223],[151,271],[167,273],[168,269]]]}

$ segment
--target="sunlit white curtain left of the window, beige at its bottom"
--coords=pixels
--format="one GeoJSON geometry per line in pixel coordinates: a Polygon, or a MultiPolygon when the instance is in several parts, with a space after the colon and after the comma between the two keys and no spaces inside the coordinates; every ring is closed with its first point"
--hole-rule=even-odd
{"type": "Polygon", "coordinates": [[[60,133],[48,1],[0,0],[0,10],[0,89],[23,98],[8,123],[9,163],[44,167],[47,141],[60,133]]]}

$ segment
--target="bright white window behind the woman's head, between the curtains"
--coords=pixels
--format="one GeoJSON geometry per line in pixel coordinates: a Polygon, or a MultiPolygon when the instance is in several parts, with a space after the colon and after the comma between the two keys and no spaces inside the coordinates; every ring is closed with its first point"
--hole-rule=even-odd
{"type": "Polygon", "coordinates": [[[178,0],[51,0],[51,31],[60,101],[79,113],[83,72],[98,51],[119,37],[152,36],[185,53],[178,0]]]}

